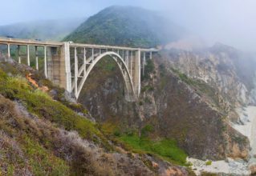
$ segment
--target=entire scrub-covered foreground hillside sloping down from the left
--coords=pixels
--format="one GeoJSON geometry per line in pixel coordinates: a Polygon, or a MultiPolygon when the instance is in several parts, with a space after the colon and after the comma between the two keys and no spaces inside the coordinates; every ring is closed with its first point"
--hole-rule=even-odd
{"type": "Polygon", "coordinates": [[[188,175],[185,167],[163,161],[161,148],[138,154],[111,140],[63,89],[0,58],[1,175],[188,175]]]}

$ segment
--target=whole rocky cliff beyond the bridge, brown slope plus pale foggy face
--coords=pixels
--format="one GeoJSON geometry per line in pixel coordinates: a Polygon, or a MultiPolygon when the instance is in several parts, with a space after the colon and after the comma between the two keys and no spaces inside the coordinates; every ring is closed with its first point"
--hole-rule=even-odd
{"type": "Polygon", "coordinates": [[[140,129],[141,134],[144,126],[152,126],[150,138],[174,138],[191,157],[246,159],[249,141],[230,119],[238,119],[237,106],[254,102],[249,81],[254,74],[250,69],[239,73],[240,61],[230,54],[238,55],[217,47],[155,55],[148,60],[138,102],[125,102],[119,70],[104,69],[110,62],[105,60],[91,73],[79,102],[98,122],[118,124],[121,130],[140,129]]]}

